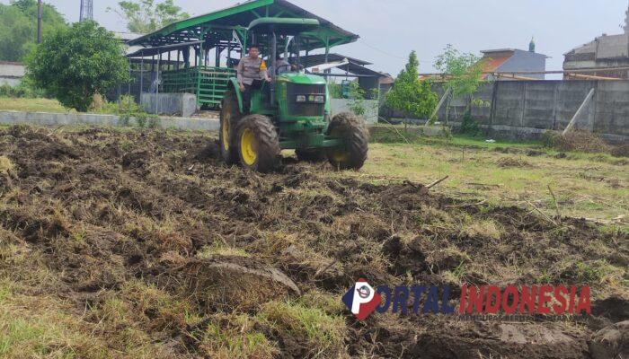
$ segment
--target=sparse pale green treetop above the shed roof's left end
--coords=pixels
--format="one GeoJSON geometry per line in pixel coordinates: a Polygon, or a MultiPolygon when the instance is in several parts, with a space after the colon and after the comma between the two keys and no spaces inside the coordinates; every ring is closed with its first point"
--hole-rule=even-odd
{"type": "Polygon", "coordinates": [[[128,31],[137,33],[153,32],[190,17],[173,0],[164,0],[159,4],[155,4],[155,0],[129,0],[120,1],[118,6],[118,10],[111,7],[107,10],[118,13],[127,21],[128,31]]]}

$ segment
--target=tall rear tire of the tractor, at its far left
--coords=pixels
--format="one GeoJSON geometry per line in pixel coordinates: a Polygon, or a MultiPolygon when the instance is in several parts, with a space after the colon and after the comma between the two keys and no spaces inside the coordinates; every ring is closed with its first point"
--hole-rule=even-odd
{"type": "Polygon", "coordinates": [[[235,132],[242,114],[238,107],[238,98],[234,90],[227,90],[223,96],[220,110],[220,130],[218,132],[218,145],[221,157],[227,164],[238,162],[238,151],[236,151],[235,132]],[[226,129],[226,131],[224,131],[226,129]],[[226,138],[224,138],[226,137],[226,138]]]}

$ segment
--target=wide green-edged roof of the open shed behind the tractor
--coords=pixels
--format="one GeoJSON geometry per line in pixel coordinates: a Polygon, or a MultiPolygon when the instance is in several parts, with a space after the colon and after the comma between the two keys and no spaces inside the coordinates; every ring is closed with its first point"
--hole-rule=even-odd
{"type": "Polygon", "coordinates": [[[234,36],[246,41],[250,30],[257,32],[255,28],[268,29],[271,22],[279,26],[276,31],[280,33],[282,30],[289,32],[300,30],[299,45],[302,50],[332,48],[359,39],[358,35],[343,30],[286,0],[250,0],[214,13],[173,22],[163,29],[131,40],[128,44],[160,47],[199,40],[218,44],[221,41],[229,41],[234,36]]]}

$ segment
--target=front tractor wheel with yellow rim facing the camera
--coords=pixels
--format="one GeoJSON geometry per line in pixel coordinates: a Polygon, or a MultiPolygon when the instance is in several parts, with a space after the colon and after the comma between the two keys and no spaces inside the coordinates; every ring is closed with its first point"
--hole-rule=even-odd
{"type": "Polygon", "coordinates": [[[263,115],[245,116],[238,123],[236,133],[236,149],[241,166],[258,172],[269,172],[278,167],[281,156],[279,137],[270,118],[263,115]]]}

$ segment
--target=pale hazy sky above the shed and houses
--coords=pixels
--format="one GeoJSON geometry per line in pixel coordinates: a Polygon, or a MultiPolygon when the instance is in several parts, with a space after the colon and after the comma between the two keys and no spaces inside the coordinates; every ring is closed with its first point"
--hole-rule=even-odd
{"type": "MultiPolygon", "coordinates": [[[[159,1],[159,0],[157,0],[159,1]]],[[[9,0],[0,0],[8,4],[9,0]]],[[[44,0],[69,22],[78,20],[80,0],[44,0]]],[[[125,31],[113,0],[93,0],[94,18],[112,31],[125,31]]],[[[237,0],[175,0],[193,15],[209,13],[237,0]]],[[[537,52],[549,57],[548,70],[559,70],[563,54],[602,33],[622,33],[628,0],[292,0],[306,10],[358,33],[357,43],[332,48],[398,74],[414,49],[421,72],[448,43],[465,52],[490,48],[527,49],[531,36],[537,52]]]]}

